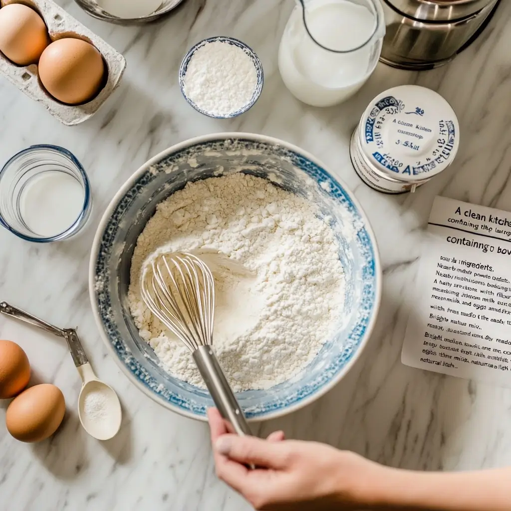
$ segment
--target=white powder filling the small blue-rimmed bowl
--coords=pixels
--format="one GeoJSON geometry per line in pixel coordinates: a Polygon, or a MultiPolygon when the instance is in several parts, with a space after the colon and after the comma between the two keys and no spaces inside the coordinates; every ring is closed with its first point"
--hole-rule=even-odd
{"type": "Polygon", "coordinates": [[[184,94],[201,110],[220,117],[250,103],[258,83],[252,59],[228,42],[206,42],[193,54],[184,75],[184,94]]]}

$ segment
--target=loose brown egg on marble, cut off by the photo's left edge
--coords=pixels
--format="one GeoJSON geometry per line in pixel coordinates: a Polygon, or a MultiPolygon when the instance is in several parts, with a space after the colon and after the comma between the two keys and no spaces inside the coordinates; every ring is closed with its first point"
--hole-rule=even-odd
{"type": "Polygon", "coordinates": [[[29,380],[30,363],[26,353],[15,342],[0,340],[0,399],[13,398],[29,380]]]}

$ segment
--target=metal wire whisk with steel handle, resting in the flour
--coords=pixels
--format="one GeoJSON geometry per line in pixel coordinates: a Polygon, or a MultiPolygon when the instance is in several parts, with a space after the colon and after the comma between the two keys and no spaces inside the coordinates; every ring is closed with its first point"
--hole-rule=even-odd
{"type": "Polygon", "coordinates": [[[215,281],[208,266],[188,252],[162,253],[142,270],[148,309],[192,352],[220,413],[239,435],[250,435],[245,416],[212,349],[215,281]]]}

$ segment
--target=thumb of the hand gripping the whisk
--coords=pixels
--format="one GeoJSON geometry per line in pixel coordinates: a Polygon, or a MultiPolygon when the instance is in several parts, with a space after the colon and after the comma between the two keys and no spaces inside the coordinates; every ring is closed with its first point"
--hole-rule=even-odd
{"type": "Polygon", "coordinates": [[[261,468],[284,468],[285,442],[268,442],[255,436],[222,435],[215,444],[218,453],[239,463],[261,468]]]}

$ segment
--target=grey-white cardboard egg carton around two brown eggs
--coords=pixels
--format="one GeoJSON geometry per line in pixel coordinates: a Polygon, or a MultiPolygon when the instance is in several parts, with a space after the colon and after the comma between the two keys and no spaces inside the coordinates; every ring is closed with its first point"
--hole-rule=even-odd
{"type": "Polygon", "coordinates": [[[99,94],[89,102],[81,105],[65,105],[50,96],[44,89],[39,80],[37,64],[19,66],[0,53],[0,73],[67,126],[80,124],[92,117],[119,85],[126,68],[126,59],[52,0],[21,0],[9,3],[25,4],[35,9],[44,19],[52,42],[65,37],[74,37],[94,45],[103,56],[107,78],[99,94]]]}

